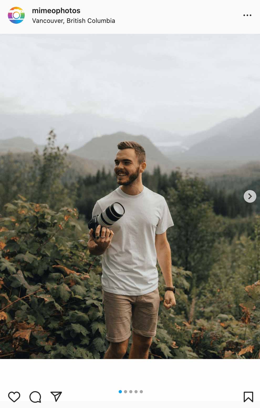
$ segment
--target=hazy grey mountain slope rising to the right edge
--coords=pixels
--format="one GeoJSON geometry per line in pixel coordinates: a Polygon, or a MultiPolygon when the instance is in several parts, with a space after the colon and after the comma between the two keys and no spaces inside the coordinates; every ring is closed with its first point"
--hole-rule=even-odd
{"type": "Polygon", "coordinates": [[[226,168],[260,157],[260,108],[233,122],[221,124],[220,130],[208,139],[196,143],[188,151],[171,155],[177,165],[215,166],[226,168]],[[232,125],[231,125],[232,124],[232,125]]]}

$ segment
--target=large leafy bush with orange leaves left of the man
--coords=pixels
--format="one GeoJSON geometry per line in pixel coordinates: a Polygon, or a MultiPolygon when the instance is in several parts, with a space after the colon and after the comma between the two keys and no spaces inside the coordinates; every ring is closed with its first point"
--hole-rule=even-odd
{"type": "Polygon", "coordinates": [[[0,219],[1,357],[100,358],[100,266],[92,266],[86,234],[71,240],[78,213],[24,200],[5,209],[12,215],[0,219]]]}

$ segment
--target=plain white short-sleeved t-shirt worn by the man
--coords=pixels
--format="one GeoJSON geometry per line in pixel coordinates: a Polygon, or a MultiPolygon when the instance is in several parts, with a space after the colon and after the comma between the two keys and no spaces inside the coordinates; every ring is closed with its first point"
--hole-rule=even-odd
{"type": "Polygon", "coordinates": [[[102,287],[118,295],[146,295],[158,287],[155,234],[173,226],[168,205],[145,186],[137,195],[118,187],[96,202],[92,216],[114,202],[122,204],[125,214],[109,227],[114,237],[103,255],[102,287]]]}

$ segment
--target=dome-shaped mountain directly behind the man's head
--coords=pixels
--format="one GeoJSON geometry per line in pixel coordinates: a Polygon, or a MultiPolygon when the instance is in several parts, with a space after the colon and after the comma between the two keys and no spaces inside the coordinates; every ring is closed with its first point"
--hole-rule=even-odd
{"type": "Polygon", "coordinates": [[[103,135],[101,137],[94,137],[90,142],[87,142],[80,149],[72,151],[72,154],[79,157],[91,157],[92,160],[109,160],[114,164],[117,144],[124,140],[133,140],[144,147],[146,151],[147,170],[152,171],[154,167],[160,166],[162,171],[170,171],[173,169],[173,163],[164,156],[159,149],[143,135],[130,135],[125,132],[117,132],[111,135],[103,135]]]}

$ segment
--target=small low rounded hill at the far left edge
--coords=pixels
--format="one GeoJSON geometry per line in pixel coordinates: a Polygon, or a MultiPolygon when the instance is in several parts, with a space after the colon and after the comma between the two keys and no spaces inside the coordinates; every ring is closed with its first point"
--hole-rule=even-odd
{"type": "Polygon", "coordinates": [[[42,153],[44,146],[33,142],[29,137],[12,137],[0,140],[0,154],[11,151],[12,153],[33,152],[38,149],[42,153]]]}

